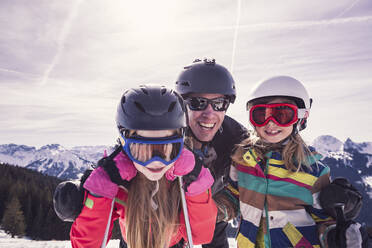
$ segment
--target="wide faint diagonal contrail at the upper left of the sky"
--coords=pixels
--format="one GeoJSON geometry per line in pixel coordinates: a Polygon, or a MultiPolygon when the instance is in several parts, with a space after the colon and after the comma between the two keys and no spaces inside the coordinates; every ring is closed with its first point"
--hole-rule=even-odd
{"type": "Polygon", "coordinates": [[[57,53],[53,57],[52,62],[44,72],[43,78],[41,80],[41,85],[45,85],[48,82],[49,75],[53,71],[54,67],[58,64],[59,59],[61,58],[61,55],[63,53],[63,50],[65,48],[65,41],[66,37],[70,32],[71,29],[71,24],[74,21],[74,19],[77,16],[78,10],[79,10],[79,5],[83,2],[84,0],[76,0],[76,2],[72,5],[71,10],[69,15],[67,16],[67,19],[65,23],[62,26],[61,32],[59,34],[58,40],[57,40],[57,53]]]}

